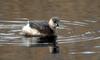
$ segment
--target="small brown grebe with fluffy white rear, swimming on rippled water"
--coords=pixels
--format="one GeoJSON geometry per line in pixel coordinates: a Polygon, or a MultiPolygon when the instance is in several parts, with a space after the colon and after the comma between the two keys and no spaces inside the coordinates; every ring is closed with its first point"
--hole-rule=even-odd
{"type": "Polygon", "coordinates": [[[60,26],[60,19],[58,17],[52,17],[49,22],[31,22],[22,28],[22,32],[28,36],[51,36],[55,35],[55,30],[60,26]]]}

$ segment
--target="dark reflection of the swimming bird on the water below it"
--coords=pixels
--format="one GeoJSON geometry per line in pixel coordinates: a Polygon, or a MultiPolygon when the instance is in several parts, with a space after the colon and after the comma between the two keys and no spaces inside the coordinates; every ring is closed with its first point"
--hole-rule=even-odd
{"type": "Polygon", "coordinates": [[[59,53],[59,46],[58,46],[58,43],[56,41],[57,40],[56,35],[39,36],[39,37],[25,35],[25,38],[32,39],[32,40],[30,40],[30,42],[29,42],[30,45],[28,47],[50,47],[49,48],[50,53],[53,53],[53,54],[59,53]]]}

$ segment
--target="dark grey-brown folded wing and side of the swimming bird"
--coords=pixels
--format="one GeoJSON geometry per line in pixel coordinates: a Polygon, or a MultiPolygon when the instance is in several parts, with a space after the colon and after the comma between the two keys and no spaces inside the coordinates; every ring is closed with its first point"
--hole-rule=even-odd
{"type": "Polygon", "coordinates": [[[41,33],[54,34],[48,22],[30,22],[30,27],[39,30],[41,33]]]}

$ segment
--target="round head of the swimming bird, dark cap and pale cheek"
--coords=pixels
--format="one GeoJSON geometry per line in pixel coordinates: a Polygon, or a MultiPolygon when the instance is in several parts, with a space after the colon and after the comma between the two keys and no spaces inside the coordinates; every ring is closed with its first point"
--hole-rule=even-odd
{"type": "Polygon", "coordinates": [[[60,26],[60,19],[58,17],[52,17],[49,21],[49,26],[52,29],[56,29],[60,26]]]}

